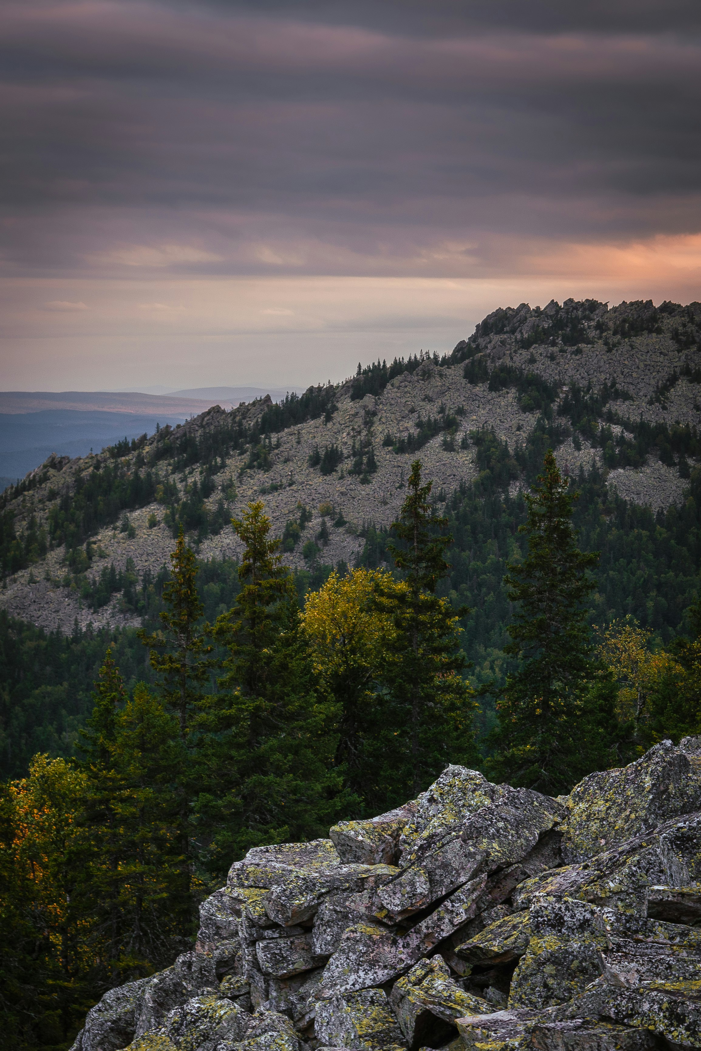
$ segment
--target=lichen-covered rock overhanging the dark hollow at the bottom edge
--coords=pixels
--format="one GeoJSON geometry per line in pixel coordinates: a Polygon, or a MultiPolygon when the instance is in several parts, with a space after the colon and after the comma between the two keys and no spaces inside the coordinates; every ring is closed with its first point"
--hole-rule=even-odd
{"type": "Polygon", "coordinates": [[[440,956],[420,961],[395,982],[390,1004],[409,1051],[444,1044],[462,1015],[492,1012],[487,1001],[472,996],[451,977],[440,956]]]}

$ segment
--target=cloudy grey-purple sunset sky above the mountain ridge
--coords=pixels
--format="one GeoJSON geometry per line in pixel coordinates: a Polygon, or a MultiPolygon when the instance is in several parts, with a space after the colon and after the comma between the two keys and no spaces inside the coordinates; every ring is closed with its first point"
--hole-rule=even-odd
{"type": "Polygon", "coordinates": [[[698,0],[3,0],[3,390],[304,387],[701,298],[698,0]]]}

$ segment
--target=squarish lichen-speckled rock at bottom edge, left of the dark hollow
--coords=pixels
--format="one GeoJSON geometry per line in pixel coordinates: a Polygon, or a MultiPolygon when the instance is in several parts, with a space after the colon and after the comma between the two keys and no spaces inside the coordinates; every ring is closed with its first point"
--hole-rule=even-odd
{"type": "Polygon", "coordinates": [[[363,989],[319,1001],[314,1032],[324,1045],[353,1051],[398,1051],[406,1047],[382,989],[363,989]]]}

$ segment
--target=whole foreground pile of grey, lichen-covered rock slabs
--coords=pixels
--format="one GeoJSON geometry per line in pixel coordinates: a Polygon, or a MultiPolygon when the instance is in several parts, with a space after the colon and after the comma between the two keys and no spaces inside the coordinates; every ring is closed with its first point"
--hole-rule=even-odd
{"type": "Polygon", "coordinates": [[[701,739],[557,800],[449,766],[257,847],[73,1051],[701,1048],[701,739]]]}

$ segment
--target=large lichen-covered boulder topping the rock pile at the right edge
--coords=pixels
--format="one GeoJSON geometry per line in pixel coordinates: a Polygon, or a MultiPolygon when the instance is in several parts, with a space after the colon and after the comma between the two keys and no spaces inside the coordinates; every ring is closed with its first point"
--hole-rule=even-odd
{"type": "Polygon", "coordinates": [[[572,789],[564,859],[586,861],[699,808],[701,779],[695,765],[682,748],[662,741],[628,766],[590,774],[572,789]]]}

